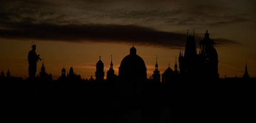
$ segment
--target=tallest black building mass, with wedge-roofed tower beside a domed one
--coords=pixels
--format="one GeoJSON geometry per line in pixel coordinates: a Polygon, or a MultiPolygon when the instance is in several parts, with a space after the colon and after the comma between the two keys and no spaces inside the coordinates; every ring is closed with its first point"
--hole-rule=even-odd
{"type": "Polygon", "coordinates": [[[179,56],[179,67],[182,77],[219,78],[218,54],[214,48],[215,42],[210,39],[209,35],[206,30],[203,40],[199,42],[199,54],[196,51],[195,35],[187,36],[184,56],[181,52],[179,56]]]}

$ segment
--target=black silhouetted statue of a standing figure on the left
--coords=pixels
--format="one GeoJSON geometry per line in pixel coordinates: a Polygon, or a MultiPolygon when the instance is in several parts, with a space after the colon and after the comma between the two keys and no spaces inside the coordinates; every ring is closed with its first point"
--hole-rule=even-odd
{"type": "Polygon", "coordinates": [[[37,61],[38,59],[41,60],[36,53],[36,45],[32,46],[32,50],[28,52],[28,76],[29,78],[35,78],[36,71],[37,71],[37,61]]]}

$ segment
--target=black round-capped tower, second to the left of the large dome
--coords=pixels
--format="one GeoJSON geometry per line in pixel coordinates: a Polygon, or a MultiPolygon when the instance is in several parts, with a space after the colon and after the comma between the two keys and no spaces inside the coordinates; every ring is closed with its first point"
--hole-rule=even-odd
{"type": "Polygon", "coordinates": [[[104,64],[102,63],[101,56],[100,56],[100,60],[96,64],[96,72],[95,72],[96,80],[103,81],[104,80],[104,73],[105,73],[104,72],[104,64]]]}

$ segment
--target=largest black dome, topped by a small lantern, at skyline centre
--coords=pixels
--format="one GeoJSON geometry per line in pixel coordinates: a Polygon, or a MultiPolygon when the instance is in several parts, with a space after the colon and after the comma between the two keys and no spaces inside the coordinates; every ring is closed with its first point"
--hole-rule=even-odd
{"type": "Polygon", "coordinates": [[[123,80],[145,80],[147,78],[144,60],[136,54],[134,47],[130,49],[130,54],[121,61],[119,77],[123,80]]]}

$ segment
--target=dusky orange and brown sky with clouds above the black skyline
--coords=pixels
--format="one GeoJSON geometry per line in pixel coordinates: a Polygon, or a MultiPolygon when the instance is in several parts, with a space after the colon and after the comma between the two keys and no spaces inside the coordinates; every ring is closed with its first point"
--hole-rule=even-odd
{"type": "MultiPolygon", "coordinates": [[[[221,78],[256,77],[256,2],[182,0],[38,0],[0,1],[0,71],[28,77],[31,42],[54,79],[63,66],[82,78],[95,78],[101,55],[105,77],[111,55],[115,73],[134,44],[145,61],[148,78],[157,55],[162,74],[184,52],[187,30],[197,48],[206,30],[216,42],[221,78]]],[[[199,49],[197,49],[199,53],[199,49]]],[[[38,62],[37,74],[42,61],[38,62]]]]}

